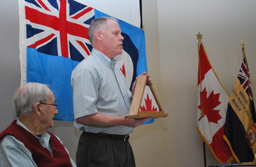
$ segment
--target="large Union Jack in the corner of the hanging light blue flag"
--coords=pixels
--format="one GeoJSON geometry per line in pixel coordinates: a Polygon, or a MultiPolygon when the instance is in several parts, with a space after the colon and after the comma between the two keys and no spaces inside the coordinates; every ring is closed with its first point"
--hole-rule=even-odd
{"type": "Polygon", "coordinates": [[[75,1],[25,1],[27,47],[75,61],[90,55],[94,9],[75,1]],[[75,7],[74,7],[75,6],[75,7]]]}

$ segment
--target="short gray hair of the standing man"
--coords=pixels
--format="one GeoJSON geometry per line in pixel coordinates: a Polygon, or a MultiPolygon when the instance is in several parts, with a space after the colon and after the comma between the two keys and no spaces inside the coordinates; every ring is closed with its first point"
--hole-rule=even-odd
{"type": "Polygon", "coordinates": [[[99,17],[92,20],[88,30],[89,40],[92,45],[93,45],[94,33],[99,30],[101,31],[105,30],[106,27],[103,27],[103,26],[106,25],[106,22],[108,19],[115,20],[116,22],[118,22],[117,19],[111,18],[111,17],[99,17]]]}

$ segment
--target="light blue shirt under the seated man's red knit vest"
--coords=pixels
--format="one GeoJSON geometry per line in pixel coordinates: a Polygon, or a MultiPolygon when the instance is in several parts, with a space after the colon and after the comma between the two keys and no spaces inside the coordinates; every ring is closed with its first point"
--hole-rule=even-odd
{"type": "MultiPolygon", "coordinates": [[[[25,128],[27,131],[29,131],[29,129],[23,123],[21,123],[21,121],[19,121],[19,119],[17,119],[17,124],[25,128]]],[[[50,137],[51,137],[50,134],[45,132],[41,134],[41,138],[37,137],[37,139],[41,143],[41,145],[49,149],[49,151],[53,155],[53,150],[49,143],[50,137]]],[[[57,139],[60,141],[58,137],[57,139]]],[[[67,149],[66,151],[68,152],[67,149]]],[[[70,161],[72,165],[75,167],[76,164],[71,158],[70,158],[70,161]]],[[[8,166],[8,167],[21,167],[21,166],[30,167],[31,166],[32,167],[32,166],[37,166],[37,164],[33,161],[31,152],[24,146],[22,142],[18,141],[14,136],[10,134],[6,134],[0,140],[0,166],[8,166]]]]}

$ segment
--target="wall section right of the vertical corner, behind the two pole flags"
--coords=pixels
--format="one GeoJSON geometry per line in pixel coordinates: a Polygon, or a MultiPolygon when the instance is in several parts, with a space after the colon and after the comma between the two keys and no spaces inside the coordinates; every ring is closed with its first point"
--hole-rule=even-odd
{"type": "MultiPolygon", "coordinates": [[[[228,94],[242,63],[241,40],[256,93],[256,1],[158,0],[158,29],[165,166],[203,166],[196,131],[198,48],[196,34],[228,94]]],[[[209,149],[207,166],[217,163],[209,149]]]]}

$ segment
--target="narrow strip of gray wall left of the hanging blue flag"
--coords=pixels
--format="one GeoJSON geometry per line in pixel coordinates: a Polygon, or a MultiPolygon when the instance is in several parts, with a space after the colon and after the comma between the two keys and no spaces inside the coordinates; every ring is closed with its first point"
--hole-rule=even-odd
{"type": "Polygon", "coordinates": [[[12,95],[21,83],[18,1],[0,5],[0,131],[15,118],[12,95]]]}

